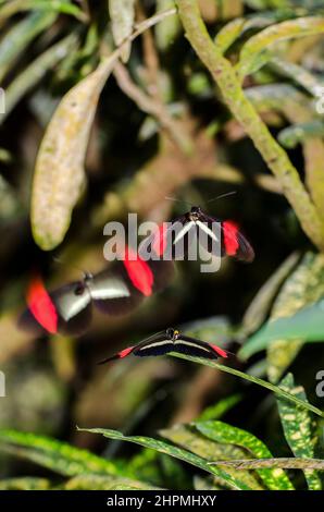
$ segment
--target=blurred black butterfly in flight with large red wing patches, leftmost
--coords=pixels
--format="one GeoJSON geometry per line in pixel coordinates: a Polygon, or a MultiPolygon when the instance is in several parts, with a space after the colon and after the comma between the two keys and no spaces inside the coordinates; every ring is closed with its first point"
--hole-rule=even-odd
{"type": "Polygon", "coordinates": [[[112,268],[85,272],[80,280],[51,292],[35,276],[27,290],[28,308],[18,325],[37,333],[80,334],[91,321],[92,306],[108,315],[125,315],[166,285],[172,272],[170,261],[145,261],[126,247],[124,259],[112,268]]]}

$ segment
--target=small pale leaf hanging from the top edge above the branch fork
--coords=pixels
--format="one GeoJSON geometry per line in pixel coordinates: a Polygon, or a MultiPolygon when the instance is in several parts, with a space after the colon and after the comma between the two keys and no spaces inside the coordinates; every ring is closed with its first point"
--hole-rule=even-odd
{"type": "MultiPolygon", "coordinates": [[[[112,23],[112,35],[119,47],[133,32],[135,17],[135,0],[109,0],[109,13],[112,23]]],[[[127,62],[130,53],[130,41],[122,52],[123,62],[127,62]]]]}

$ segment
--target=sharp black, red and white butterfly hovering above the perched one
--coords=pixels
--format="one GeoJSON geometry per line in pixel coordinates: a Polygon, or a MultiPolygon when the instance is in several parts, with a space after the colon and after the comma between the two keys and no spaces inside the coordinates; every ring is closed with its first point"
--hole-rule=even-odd
{"type": "Polygon", "coordinates": [[[182,241],[187,253],[188,237],[192,232],[210,254],[216,255],[216,248],[220,256],[234,256],[246,263],[254,259],[251,244],[235,222],[217,220],[204,214],[199,206],[192,206],[190,211],[160,225],[155,233],[142,242],[141,251],[153,251],[160,257],[171,253],[171,257],[174,257],[176,245],[182,241]]]}

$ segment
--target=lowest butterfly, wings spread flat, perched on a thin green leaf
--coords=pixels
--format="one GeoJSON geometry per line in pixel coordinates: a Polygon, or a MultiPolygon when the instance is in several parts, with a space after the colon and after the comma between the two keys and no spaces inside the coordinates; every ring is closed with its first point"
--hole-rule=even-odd
{"type": "Polygon", "coordinates": [[[127,355],[136,355],[138,357],[147,357],[150,355],[165,355],[170,352],[178,354],[187,354],[208,359],[216,359],[219,357],[227,357],[228,352],[217,345],[208,343],[205,341],[197,340],[183,334],[179,330],[167,328],[164,331],[147,338],[140,343],[128,346],[117,354],[114,354],[99,364],[102,365],[110,361],[123,359],[127,355]]]}

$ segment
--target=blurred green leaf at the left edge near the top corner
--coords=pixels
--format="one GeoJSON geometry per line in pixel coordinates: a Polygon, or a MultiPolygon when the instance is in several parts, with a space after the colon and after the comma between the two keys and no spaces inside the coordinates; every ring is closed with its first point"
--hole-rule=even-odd
{"type": "Polygon", "coordinates": [[[11,70],[21,53],[26,51],[28,44],[52,25],[57,14],[52,12],[35,12],[23,21],[15,23],[0,41],[0,83],[11,70]]]}

